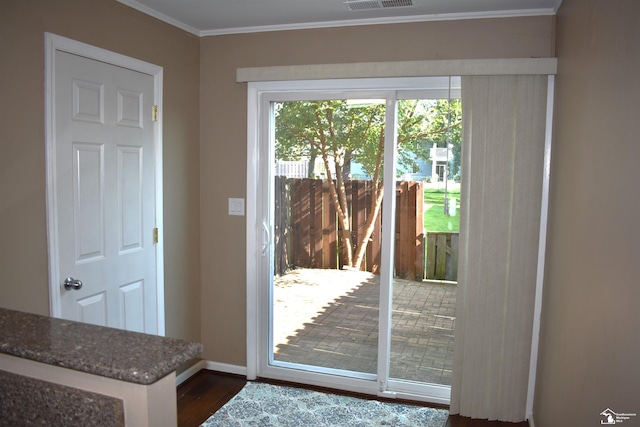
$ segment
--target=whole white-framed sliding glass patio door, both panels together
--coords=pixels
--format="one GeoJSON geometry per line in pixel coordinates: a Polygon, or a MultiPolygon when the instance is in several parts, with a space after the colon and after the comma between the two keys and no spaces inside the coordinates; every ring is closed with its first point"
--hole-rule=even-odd
{"type": "Polygon", "coordinates": [[[258,376],[448,402],[455,282],[424,281],[424,187],[456,96],[449,77],[260,94],[258,376]]]}

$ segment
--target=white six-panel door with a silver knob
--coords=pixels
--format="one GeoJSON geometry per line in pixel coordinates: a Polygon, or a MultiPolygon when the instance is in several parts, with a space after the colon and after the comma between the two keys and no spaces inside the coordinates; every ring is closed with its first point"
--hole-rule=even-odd
{"type": "Polygon", "coordinates": [[[154,78],[56,51],[53,84],[61,317],[158,333],[154,78]]]}

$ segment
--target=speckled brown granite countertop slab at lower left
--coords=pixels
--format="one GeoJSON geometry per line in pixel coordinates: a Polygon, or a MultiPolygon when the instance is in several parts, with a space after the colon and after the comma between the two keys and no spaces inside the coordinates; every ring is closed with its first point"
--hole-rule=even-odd
{"type": "Polygon", "coordinates": [[[147,385],[202,344],[0,308],[0,353],[147,385]]]}

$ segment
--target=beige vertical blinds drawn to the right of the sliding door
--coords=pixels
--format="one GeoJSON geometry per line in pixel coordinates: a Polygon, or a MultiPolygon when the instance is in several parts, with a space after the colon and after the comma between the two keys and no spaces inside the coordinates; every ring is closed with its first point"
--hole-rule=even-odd
{"type": "Polygon", "coordinates": [[[462,79],[453,414],[526,419],[547,78],[462,79]]]}

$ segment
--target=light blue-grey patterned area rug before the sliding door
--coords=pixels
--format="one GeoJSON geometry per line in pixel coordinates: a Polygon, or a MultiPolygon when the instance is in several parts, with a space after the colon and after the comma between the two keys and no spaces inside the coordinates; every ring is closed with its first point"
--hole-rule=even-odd
{"type": "Polygon", "coordinates": [[[201,427],[442,427],[448,411],[248,382],[201,427]]]}

